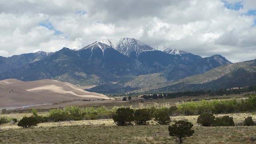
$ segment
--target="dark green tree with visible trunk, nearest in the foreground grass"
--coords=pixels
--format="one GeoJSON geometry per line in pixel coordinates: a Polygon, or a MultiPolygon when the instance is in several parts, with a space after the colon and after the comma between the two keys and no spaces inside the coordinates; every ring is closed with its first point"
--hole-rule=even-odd
{"type": "Polygon", "coordinates": [[[174,137],[174,139],[178,143],[184,142],[186,137],[190,137],[194,134],[194,130],[191,130],[193,124],[191,122],[186,122],[184,120],[179,120],[172,124],[172,126],[168,127],[170,136],[174,137]]]}

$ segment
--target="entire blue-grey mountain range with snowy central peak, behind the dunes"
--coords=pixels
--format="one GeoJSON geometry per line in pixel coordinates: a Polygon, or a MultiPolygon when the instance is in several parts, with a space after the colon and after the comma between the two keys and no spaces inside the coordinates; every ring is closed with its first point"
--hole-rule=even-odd
{"type": "Polygon", "coordinates": [[[77,51],[62,48],[54,53],[0,57],[0,80],[53,79],[76,86],[96,85],[90,89],[93,92],[139,92],[226,64],[232,63],[220,55],[202,58],[178,50],[162,52],[139,40],[122,38],[94,42],[77,51]]]}

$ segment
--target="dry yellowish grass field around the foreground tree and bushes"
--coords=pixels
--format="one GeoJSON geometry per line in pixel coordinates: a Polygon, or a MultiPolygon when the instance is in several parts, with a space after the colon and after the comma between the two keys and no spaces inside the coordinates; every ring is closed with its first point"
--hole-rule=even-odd
{"type": "MultiPolygon", "coordinates": [[[[29,116],[31,113],[27,113],[29,116]]],[[[47,113],[41,113],[47,115],[47,113]]],[[[40,115],[40,113],[39,113],[40,115]]],[[[226,114],[235,124],[251,113],[226,114]]],[[[2,115],[3,116],[3,115],[2,115]]],[[[10,116],[5,114],[4,116],[10,116]]],[[[24,114],[16,114],[22,118],[24,114]]],[[[216,115],[223,116],[223,115],[216,115]]],[[[256,126],[203,127],[196,124],[198,116],[175,116],[172,120],[188,120],[195,133],[186,139],[187,144],[256,144],[256,126]]],[[[148,126],[116,126],[112,119],[72,122],[47,122],[34,128],[21,128],[4,124],[0,131],[0,144],[175,144],[168,134],[168,126],[154,121],[148,126]]]]}

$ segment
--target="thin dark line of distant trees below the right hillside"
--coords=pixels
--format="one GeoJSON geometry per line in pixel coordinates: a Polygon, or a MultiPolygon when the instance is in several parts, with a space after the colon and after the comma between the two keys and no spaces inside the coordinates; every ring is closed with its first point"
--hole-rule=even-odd
{"type": "Polygon", "coordinates": [[[238,89],[221,89],[216,91],[211,90],[196,90],[196,91],[186,91],[186,92],[169,92],[169,93],[163,93],[163,94],[148,94],[141,96],[144,99],[157,99],[157,98],[177,98],[181,96],[200,96],[204,94],[208,94],[210,96],[222,96],[222,95],[230,95],[230,94],[241,94],[244,92],[252,92],[256,91],[256,86],[248,86],[245,88],[238,88],[238,89]]]}

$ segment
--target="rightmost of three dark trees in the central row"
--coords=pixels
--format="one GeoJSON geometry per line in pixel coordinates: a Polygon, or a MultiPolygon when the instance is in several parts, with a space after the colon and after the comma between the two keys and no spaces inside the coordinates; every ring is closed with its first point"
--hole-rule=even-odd
{"type": "Polygon", "coordinates": [[[158,122],[158,124],[170,124],[171,119],[168,111],[166,111],[164,108],[159,109],[155,115],[155,121],[158,122]]]}

